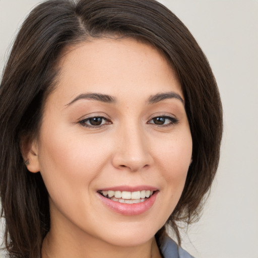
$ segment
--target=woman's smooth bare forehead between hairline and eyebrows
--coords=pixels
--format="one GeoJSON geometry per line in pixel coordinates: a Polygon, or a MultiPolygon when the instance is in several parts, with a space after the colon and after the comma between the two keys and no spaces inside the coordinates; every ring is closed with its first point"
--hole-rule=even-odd
{"type": "MultiPolygon", "coordinates": [[[[66,49],[59,62],[58,91],[147,95],[181,87],[167,58],[146,42],[94,39],[66,49]]],[[[68,97],[68,96],[67,96],[68,97]]]]}

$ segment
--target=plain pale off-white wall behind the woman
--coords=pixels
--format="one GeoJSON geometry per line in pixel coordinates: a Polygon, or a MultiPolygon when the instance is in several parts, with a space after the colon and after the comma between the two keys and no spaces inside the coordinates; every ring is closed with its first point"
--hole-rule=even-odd
{"type": "MultiPolygon", "coordinates": [[[[0,71],[37,0],[0,0],[0,71]]],[[[221,93],[221,161],[201,220],[183,233],[200,258],[258,257],[258,1],[163,0],[207,55],[221,93]]],[[[1,75],[1,73],[0,73],[1,75]]]]}

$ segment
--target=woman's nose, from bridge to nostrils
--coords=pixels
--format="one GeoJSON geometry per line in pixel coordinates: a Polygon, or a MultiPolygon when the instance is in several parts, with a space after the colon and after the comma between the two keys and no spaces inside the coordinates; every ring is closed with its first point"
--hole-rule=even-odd
{"type": "Polygon", "coordinates": [[[151,146],[140,126],[123,128],[116,136],[112,164],[117,169],[140,171],[153,163],[151,146]]]}

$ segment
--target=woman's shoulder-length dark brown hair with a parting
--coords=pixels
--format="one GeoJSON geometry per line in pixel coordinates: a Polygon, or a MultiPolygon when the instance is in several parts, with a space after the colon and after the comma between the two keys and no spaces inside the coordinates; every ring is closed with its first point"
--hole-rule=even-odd
{"type": "MultiPolygon", "coordinates": [[[[177,72],[193,143],[185,186],[167,221],[179,244],[176,223],[191,223],[202,208],[219,162],[222,107],[209,63],[188,29],[154,0],[50,0],[23,23],[0,88],[0,192],[5,244],[12,257],[39,257],[50,227],[48,193],[40,173],[29,173],[24,164],[21,137],[38,132],[61,51],[107,35],[149,42],[177,72]]],[[[164,234],[165,226],[157,239],[164,234]]]]}

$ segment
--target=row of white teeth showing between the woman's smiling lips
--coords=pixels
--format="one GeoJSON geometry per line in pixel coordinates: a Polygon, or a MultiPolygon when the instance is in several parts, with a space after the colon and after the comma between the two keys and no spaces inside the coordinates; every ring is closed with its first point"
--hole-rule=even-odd
{"type": "Polygon", "coordinates": [[[98,191],[103,197],[114,202],[125,204],[138,204],[148,200],[155,191],[142,190],[142,191],[98,191]]]}

